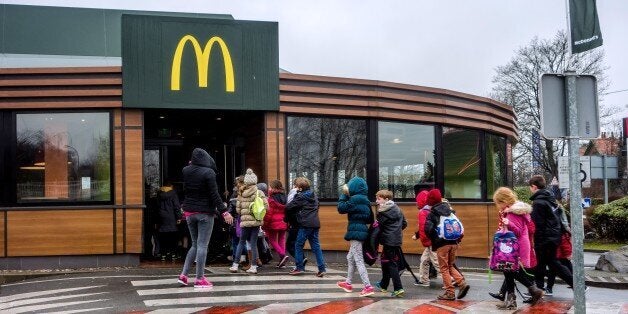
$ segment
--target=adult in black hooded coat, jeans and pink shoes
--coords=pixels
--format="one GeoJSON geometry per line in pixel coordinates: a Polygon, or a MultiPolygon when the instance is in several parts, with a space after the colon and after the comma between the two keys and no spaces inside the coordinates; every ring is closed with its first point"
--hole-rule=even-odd
{"type": "Polygon", "coordinates": [[[227,211],[227,206],[218,193],[216,172],[216,162],[201,148],[195,148],[192,151],[190,164],[183,168],[185,199],[181,207],[192,238],[192,245],[185,257],[183,270],[178,280],[179,284],[184,286],[188,285],[187,274],[192,263],[196,261],[194,287],[212,287],[212,283],[205,279],[205,261],[217,211],[222,213],[228,224],[233,223],[233,217],[227,211]]]}

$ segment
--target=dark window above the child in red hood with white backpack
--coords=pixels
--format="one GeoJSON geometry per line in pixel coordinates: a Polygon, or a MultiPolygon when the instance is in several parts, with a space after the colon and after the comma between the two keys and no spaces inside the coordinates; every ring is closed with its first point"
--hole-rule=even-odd
{"type": "Polygon", "coordinates": [[[443,127],[446,198],[482,198],[480,133],[443,127]]]}

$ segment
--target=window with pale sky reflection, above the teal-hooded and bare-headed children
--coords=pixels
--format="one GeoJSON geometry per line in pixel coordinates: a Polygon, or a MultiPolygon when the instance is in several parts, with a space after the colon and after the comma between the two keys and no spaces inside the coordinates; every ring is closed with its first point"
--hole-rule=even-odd
{"type": "Polygon", "coordinates": [[[379,189],[413,198],[434,187],[434,127],[378,123],[379,189]]]}

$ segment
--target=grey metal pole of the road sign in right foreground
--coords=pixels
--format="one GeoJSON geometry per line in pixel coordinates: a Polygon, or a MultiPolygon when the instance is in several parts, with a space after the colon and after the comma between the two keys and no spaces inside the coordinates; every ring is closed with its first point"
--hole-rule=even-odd
{"type": "Polygon", "coordinates": [[[567,99],[567,129],[569,150],[569,208],[571,211],[571,234],[573,240],[573,294],[574,313],[586,313],[584,295],[584,254],[582,251],[584,227],[582,222],[582,185],[580,182],[580,138],[578,136],[578,107],[576,104],[576,73],[565,71],[567,99]]]}

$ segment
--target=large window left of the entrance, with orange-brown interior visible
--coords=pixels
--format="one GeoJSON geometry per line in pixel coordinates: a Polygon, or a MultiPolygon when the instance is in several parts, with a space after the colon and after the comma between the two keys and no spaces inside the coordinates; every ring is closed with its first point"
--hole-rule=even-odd
{"type": "Polygon", "coordinates": [[[17,201],[111,200],[110,115],[16,115],[17,201]]]}

